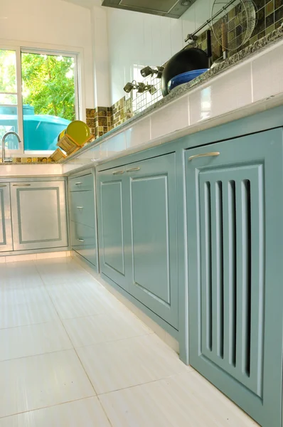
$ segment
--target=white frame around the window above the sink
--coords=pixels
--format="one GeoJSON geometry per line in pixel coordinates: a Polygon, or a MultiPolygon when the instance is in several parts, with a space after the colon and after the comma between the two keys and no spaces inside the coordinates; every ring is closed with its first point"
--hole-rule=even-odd
{"type": "Polygon", "coordinates": [[[0,49],[16,52],[16,87],[17,87],[17,107],[18,107],[18,135],[21,143],[18,149],[6,149],[6,154],[21,154],[23,157],[36,157],[38,154],[48,155],[53,151],[48,150],[25,150],[23,137],[23,97],[21,92],[21,53],[41,53],[46,55],[62,55],[76,59],[75,66],[75,113],[78,120],[85,122],[85,81],[84,81],[84,59],[83,49],[70,46],[54,46],[42,43],[23,43],[17,41],[2,41],[0,39],[0,49]]]}

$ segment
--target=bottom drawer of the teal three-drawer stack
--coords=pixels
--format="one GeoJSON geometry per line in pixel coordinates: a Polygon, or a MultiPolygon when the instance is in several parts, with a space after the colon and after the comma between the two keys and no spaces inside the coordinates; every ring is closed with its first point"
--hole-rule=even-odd
{"type": "Polygon", "coordinates": [[[97,263],[95,228],[84,226],[71,221],[71,244],[78,252],[93,265],[97,263]]]}

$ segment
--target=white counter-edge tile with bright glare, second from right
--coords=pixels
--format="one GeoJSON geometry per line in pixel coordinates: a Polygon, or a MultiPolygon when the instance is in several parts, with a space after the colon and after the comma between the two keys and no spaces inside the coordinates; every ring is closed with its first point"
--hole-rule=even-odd
{"type": "Polygon", "coordinates": [[[251,65],[235,67],[189,95],[191,125],[252,102],[251,65]]]}

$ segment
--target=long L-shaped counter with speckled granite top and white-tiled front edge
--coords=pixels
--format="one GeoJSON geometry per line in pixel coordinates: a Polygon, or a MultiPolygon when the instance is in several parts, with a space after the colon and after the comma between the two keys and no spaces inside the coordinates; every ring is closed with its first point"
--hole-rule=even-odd
{"type": "Polygon", "coordinates": [[[0,176],[68,175],[283,105],[283,28],[231,56],[60,164],[0,164],[0,176]],[[263,84],[264,82],[264,84],[263,84]]]}

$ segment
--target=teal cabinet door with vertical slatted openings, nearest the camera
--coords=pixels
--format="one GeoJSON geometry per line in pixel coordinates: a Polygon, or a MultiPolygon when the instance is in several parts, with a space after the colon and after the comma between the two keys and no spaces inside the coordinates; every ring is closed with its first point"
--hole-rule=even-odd
{"type": "Polygon", "coordinates": [[[282,129],[186,152],[190,363],[263,427],[282,417],[282,158],[282,129]]]}

